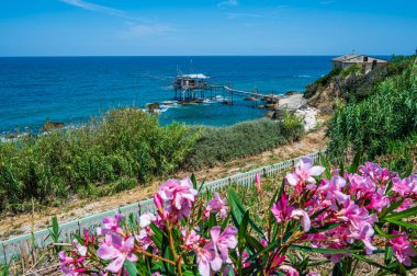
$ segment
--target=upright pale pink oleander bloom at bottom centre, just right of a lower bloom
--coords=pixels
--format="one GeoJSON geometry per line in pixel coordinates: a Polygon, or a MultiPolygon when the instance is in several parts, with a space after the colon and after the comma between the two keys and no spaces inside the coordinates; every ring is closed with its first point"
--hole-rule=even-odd
{"type": "MultiPolygon", "coordinates": [[[[219,257],[222,263],[232,263],[230,258],[228,257],[228,250],[235,249],[237,245],[237,229],[235,227],[228,226],[223,231],[223,233],[221,233],[221,231],[222,229],[219,226],[215,226],[210,230],[210,235],[212,237],[210,244],[212,244],[215,252],[215,258],[219,257]]],[[[218,260],[214,260],[213,263],[217,264],[218,260]]]]}

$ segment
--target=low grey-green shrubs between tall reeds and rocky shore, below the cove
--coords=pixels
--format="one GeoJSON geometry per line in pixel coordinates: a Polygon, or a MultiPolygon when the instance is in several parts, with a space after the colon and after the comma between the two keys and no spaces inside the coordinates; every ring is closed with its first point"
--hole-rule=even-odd
{"type": "Polygon", "coordinates": [[[300,138],[303,125],[298,118],[284,114],[282,120],[259,119],[232,127],[203,127],[195,152],[194,168],[252,156],[300,138]]]}

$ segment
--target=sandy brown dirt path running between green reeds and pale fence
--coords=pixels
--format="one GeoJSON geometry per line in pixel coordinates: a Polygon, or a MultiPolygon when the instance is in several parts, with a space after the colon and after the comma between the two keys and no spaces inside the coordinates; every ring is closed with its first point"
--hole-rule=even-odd
{"type": "MultiPolygon", "coordinates": [[[[325,129],[322,127],[304,136],[300,141],[278,147],[260,154],[243,158],[225,164],[208,168],[195,173],[198,181],[206,182],[229,176],[239,172],[246,172],[259,166],[264,166],[295,157],[308,154],[323,149],[326,145],[325,129]]],[[[179,172],[172,177],[180,179],[189,175],[188,172],[179,172]]],[[[99,214],[104,210],[115,209],[120,206],[137,203],[151,197],[164,180],[154,181],[147,186],[138,186],[113,196],[97,199],[77,199],[59,207],[45,207],[34,214],[3,216],[0,219],[0,240],[10,237],[40,230],[49,225],[53,216],[58,217],[59,222],[79,219],[86,216],[99,214]]]]}

